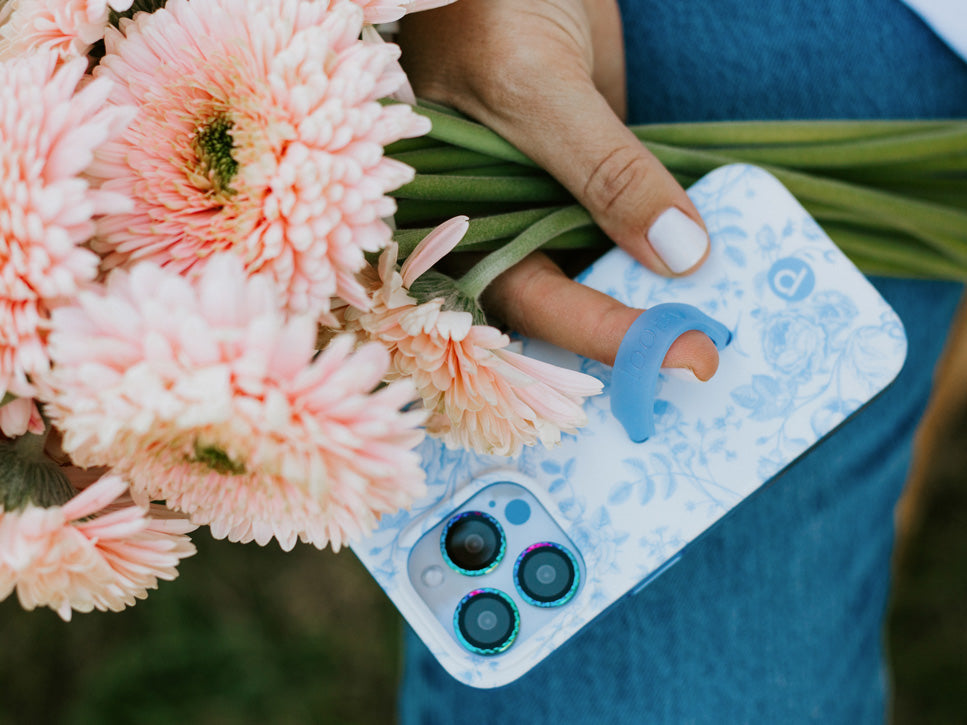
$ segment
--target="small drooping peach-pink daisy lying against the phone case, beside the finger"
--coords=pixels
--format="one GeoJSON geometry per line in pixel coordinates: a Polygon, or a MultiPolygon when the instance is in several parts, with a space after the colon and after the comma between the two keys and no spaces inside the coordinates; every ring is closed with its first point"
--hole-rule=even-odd
{"type": "Polygon", "coordinates": [[[510,339],[494,327],[473,324],[469,312],[444,308],[441,298],[418,304],[407,290],[466,232],[457,218],[427,236],[396,270],[396,245],[372,275],[369,312],[347,312],[387,345],[390,377],[411,379],[433,415],[428,431],[451,446],[481,453],[516,455],[522,446],[560,440],[584,425],[584,398],[601,392],[597,379],[507,350],[510,339]]]}

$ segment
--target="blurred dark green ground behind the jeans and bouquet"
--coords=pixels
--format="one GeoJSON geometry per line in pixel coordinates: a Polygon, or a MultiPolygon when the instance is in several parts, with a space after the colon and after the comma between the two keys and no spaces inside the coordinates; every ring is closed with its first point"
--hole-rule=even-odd
{"type": "MultiPolygon", "coordinates": [[[[967,722],[965,371],[967,354],[948,364],[904,507],[897,725],[967,722]]],[[[176,582],[120,614],[0,603],[0,725],[393,722],[400,621],[351,553],[195,542],[176,582]]]]}

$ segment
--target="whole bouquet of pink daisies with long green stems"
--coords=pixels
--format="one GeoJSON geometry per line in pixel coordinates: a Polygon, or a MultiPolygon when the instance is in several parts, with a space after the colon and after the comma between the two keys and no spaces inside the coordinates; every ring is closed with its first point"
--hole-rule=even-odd
{"type": "MultiPolygon", "coordinates": [[[[600,382],[477,300],[605,240],[373,29],[450,1],[0,0],[0,599],[120,610],[199,525],[338,549],[423,493],[424,435],[585,422],[600,382]]],[[[967,277],[963,123],[637,132],[683,181],[768,165],[874,271],[967,277]]]]}

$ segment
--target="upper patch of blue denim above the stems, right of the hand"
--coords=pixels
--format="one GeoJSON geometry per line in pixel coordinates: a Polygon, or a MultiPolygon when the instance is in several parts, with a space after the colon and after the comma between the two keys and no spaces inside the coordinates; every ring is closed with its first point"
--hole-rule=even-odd
{"type": "Polygon", "coordinates": [[[898,0],[620,0],[631,123],[951,118],[967,63],[898,0]]]}

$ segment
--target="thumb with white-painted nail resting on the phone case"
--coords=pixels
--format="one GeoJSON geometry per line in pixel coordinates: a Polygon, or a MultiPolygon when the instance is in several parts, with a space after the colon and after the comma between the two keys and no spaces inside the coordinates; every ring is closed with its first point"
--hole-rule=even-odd
{"type": "Polygon", "coordinates": [[[545,75],[531,102],[483,119],[547,169],[632,257],[666,276],[707,257],[708,233],[684,189],[614,114],[590,78],[545,75]]]}

